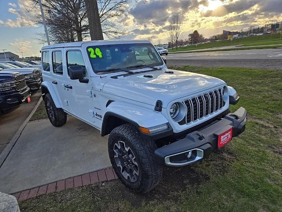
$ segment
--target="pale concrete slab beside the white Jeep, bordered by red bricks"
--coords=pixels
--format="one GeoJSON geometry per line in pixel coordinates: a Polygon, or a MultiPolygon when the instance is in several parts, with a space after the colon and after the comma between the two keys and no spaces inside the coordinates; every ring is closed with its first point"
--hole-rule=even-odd
{"type": "Polygon", "coordinates": [[[70,116],[62,127],[29,122],[0,168],[0,192],[16,193],[111,166],[107,137],[70,116]]]}

